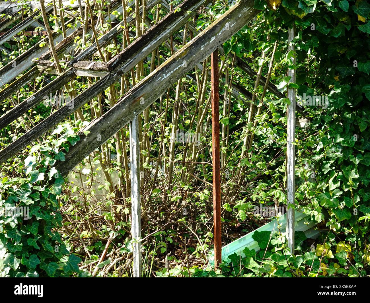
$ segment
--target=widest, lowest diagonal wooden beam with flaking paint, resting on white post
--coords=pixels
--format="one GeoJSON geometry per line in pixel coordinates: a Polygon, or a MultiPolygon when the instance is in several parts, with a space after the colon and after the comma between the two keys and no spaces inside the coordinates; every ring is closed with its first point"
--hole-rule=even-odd
{"type": "Polygon", "coordinates": [[[70,147],[65,155],[65,162],[59,161],[55,167],[63,176],[67,175],[74,166],[128,124],[136,115],[144,111],[164,94],[169,86],[188,73],[197,63],[205,60],[212,53],[212,50],[215,50],[239,31],[257,13],[258,10],[253,7],[253,0],[241,0],[236,3],[201,34],[193,38],[154,72],[139,82],[108,112],[79,132],[80,141],[70,147]],[[101,141],[98,141],[97,138],[100,138],[101,141]]]}

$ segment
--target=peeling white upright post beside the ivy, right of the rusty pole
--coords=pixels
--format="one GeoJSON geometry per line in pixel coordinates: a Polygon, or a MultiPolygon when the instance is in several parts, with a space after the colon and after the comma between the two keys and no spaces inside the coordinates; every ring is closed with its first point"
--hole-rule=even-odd
{"type": "MultiPolygon", "coordinates": [[[[288,28],[288,53],[294,51],[293,38],[295,36],[295,26],[288,28]]],[[[290,57],[292,63],[296,63],[295,55],[290,57]]],[[[290,82],[296,82],[295,69],[288,68],[288,77],[290,82]]],[[[286,149],[286,173],[287,173],[287,220],[286,220],[286,235],[288,241],[288,248],[290,253],[294,255],[294,209],[290,207],[290,204],[294,205],[295,196],[295,133],[296,133],[296,90],[294,88],[287,88],[287,97],[290,100],[290,104],[287,107],[287,149],[286,149]]]]}

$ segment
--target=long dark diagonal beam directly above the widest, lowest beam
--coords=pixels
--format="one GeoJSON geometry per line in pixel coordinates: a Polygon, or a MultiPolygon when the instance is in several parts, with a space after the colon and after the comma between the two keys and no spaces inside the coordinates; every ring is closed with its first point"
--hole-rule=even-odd
{"type": "MultiPolygon", "coordinates": [[[[194,7],[200,5],[203,0],[187,0],[180,5],[181,10],[174,10],[162,20],[160,20],[155,26],[146,31],[141,37],[131,43],[124,51],[120,54],[118,66],[104,78],[94,83],[90,88],[83,91],[80,95],[74,98],[74,106],[63,106],[53,115],[47,117],[42,122],[37,124],[30,131],[26,132],[22,137],[12,142],[2,151],[0,151],[0,163],[3,163],[11,156],[19,152],[22,148],[36,140],[38,137],[43,135],[49,129],[54,127],[63,119],[71,115],[77,108],[83,106],[86,102],[94,98],[97,94],[104,91],[105,88],[118,81],[122,75],[127,73],[131,68],[137,65],[143,60],[147,54],[151,53],[157,48],[164,40],[170,37],[179,27],[183,26],[189,18],[189,3],[192,3],[194,7]],[[174,26],[176,24],[176,26],[174,26]],[[148,44],[148,41],[151,41],[148,44]],[[124,61],[125,59],[125,61],[124,61]]],[[[196,13],[196,10],[191,13],[191,16],[196,13]]],[[[117,61],[115,61],[117,62],[117,61]]],[[[153,100],[154,101],[154,100],[153,100]]],[[[23,103],[23,102],[22,102],[23,103]]],[[[134,118],[134,117],[132,117],[134,118]]],[[[131,118],[131,119],[132,119],[131,118]]],[[[131,120],[130,119],[130,120],[131,120]]],[[[129,121],[127,121],[128,123],[129,121]]],[[[126,124],[127,124],[126,123],[126,124]]]]}

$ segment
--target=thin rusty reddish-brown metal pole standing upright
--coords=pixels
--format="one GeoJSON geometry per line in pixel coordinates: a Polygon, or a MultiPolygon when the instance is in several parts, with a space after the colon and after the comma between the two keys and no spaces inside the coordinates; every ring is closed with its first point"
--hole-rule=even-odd
{"type": "Polygon", "coordinates": [[[221,176],[220,176],[220,112],[218,97],[218,50],[211,55],[212,100],[212,172],[213,172],[213,234],[215,268],[221,263],[221,176]]]}

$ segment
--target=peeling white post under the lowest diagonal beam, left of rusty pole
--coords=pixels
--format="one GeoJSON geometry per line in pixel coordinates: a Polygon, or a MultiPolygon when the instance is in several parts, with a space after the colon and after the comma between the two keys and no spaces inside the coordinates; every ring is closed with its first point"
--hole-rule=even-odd
{"type": "Polygon", "coordinates": [[[136,116],[129,124],[131,160],[131,234],[133,239],[133,274],[141,277],[141,201],[140,201],[140,150],[139,118],[136,116]]]}

